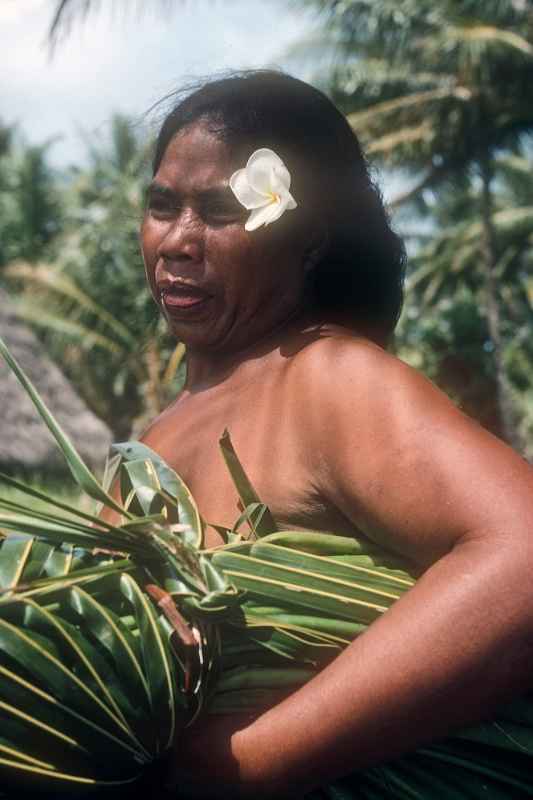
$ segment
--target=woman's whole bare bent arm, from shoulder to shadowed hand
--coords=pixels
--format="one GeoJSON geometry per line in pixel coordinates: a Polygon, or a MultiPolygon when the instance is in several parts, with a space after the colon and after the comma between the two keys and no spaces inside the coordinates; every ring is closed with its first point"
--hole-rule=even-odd
{"type": "Polygon", "coordinates": [[[316,678],[229,740],[226,722],[191,731],[182,764],[201,796],[214,775],[216,796],[300,796],[533,687],[531,468],[387,354],[352,340],[317,351],[298,379],[306,391],[294,387],[314,397],[301,413],[317,490],[427,569],[316,678]]]}

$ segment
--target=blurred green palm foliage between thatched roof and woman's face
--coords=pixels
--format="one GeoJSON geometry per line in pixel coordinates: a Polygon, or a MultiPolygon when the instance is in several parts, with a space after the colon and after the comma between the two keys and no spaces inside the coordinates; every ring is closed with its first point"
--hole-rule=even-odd
{"type": "MultiPolygon", "coordinates": [[[[183,380],[183,347],[166,334],[144,276],[138,229],[149,145],[125,117],[91,140],[89,166],[61,187],[63,229],[37,263],[5,267],[20,315],[37,328],[89,407],[118,439],[153,419],[183,380]]],[[[3,196],[0,192],[0,196],[3,196]]]]}

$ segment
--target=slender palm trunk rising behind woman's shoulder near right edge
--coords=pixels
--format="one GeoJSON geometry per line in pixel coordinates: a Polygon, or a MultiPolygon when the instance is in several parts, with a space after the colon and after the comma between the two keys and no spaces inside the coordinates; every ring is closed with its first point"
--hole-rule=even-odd
{"type": "Polygon", "coordinates": [[[523,450],[523,442],[517,430],[517,413],[512,396],[512,389],[507,378],[505,365],[503,363],[502,335],[501,335],[501,308],[499,302],[498,284],[496,279],[496,267],[498,263],[498,251],[496,246],[496,232],[492,222],[493,198],[492,198],[492,178],[493,171],[488,153],[484,153],[479,159],[479,170],[481,175],[481,220],[483,227],[483,267],[486,296],[486,317],[489,335],[493,345],[493,358],[496,368],[496,387],[497,402],[500,419],[502,423],[503,435],[507,442],[516,450],[523,450]]]}

